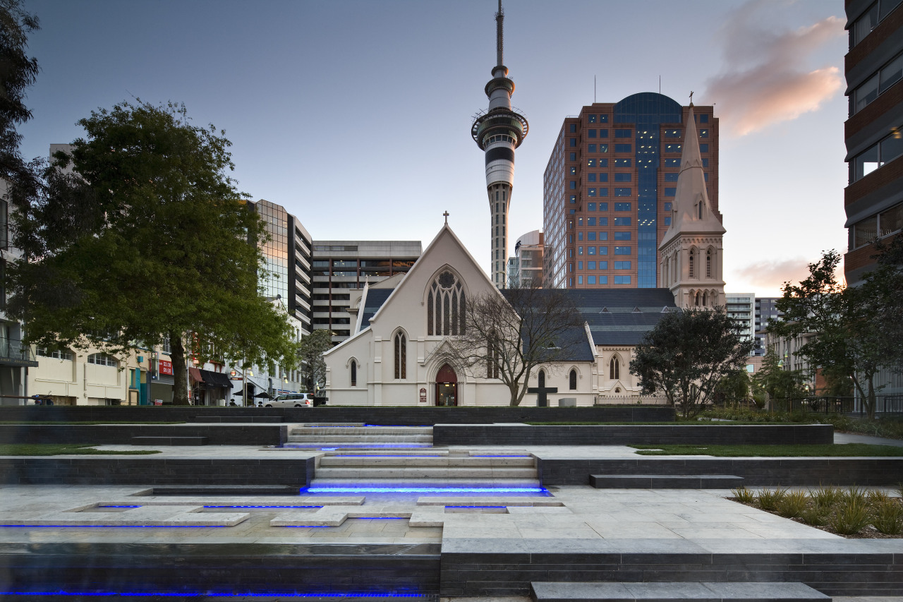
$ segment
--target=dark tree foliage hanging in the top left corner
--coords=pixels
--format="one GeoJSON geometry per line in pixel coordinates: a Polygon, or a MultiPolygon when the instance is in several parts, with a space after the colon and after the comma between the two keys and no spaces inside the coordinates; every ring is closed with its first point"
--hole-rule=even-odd
{"type": "Polygon", "coordinates": [[[23,11],[19,0],[0,0],[0,178],[21,181],[31,175],[19,154],[22,135],[16,125],[32,118],[25,90],[38,75],[38,61],[25,51],[38,18],[23,11]]]}

